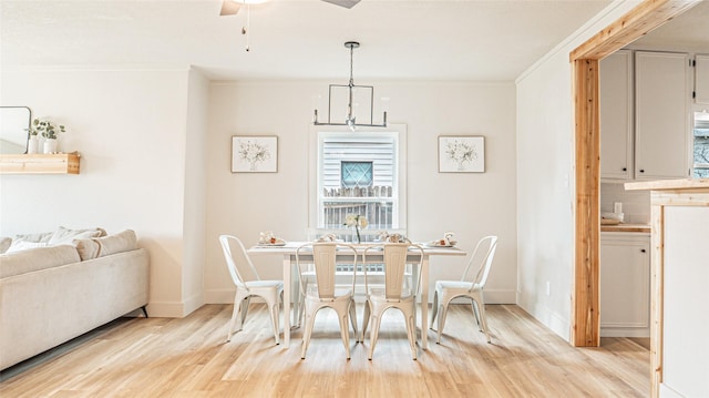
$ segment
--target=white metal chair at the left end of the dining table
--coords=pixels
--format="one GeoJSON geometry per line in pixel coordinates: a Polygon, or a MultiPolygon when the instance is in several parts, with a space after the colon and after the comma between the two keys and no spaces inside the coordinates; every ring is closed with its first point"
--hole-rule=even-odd
{"type": "Polygon", "coordinates": [[[261,297],[268,310],[270,312],[270,318],[274,325],[274,336],[276,337],[276,344],[280,344],[278,337],[278,307],[282,304],[284,295],[284,282],[282,280],[263,280],[248,254],[242,241],[236,236],[220,235],[219,243],[222,243],[222,249],[226,259],[227,268],[234,285],[236,285],[236,294],[234,295],[234,312],[232,314],[232,320],[229,322],[229,330],[226,335],[226,340],[230,341],[232,336],[242,330],[244,322],[246,320],[246,314],[248,313],[248,305],[253,296],[261,297]],[[242,261],[235,258],[235,254],[240,255],[242,261]]]}

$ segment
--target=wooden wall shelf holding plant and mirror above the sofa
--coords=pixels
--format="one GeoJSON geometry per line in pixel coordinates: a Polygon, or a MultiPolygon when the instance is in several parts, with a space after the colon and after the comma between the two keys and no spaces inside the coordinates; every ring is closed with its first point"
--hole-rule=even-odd
{"type": "Polygon", "coordinates": [[[0,174],[79,174],[76,152],[32,155],[0,154],[0,174]]]}

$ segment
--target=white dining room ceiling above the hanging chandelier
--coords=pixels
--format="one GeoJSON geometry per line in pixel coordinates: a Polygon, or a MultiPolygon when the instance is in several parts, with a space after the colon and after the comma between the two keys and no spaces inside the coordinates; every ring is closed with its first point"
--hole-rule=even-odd
{"type": "MultiPolygon", "coordinates": [[[[2,68],[195,65],[215,80],[508,81],[610,0],[0,0],[2,68]]],[[[706,24],[705,24],[706,25],[706,24]]]]}

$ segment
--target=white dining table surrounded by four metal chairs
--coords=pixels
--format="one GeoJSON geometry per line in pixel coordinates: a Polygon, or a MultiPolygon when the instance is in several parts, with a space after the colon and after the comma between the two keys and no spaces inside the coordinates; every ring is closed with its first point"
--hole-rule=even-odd
{"type": "MultiPolygon", "coordinates": [[[[282,279],[284,279],[284,348],[290,347],[290,330],[291,330],[291,316],[292,325],[298,324],[297,312],[292,312],[291,306],[294,303],[292,295],[298,293],[298,274],[296,266],[296,251],[301,245],[311,242],[281,242],[278,244],[256,244],[247,249],[249,256],[261,255],[280,255],[282,258],[282,279]]],[[[381,246],[382,243],[362,243],[354,244],[358,256],[364,253],[367,246],[377,245],[381,246]]],[[[407,262],[411,264],[421,264],[421,269],[418,269],[421,277],[421,348],[428,349],[428,314],[429,314],[429,265],[431,256],[466,256],[467,253],[455,246],[438,246],[432,244],[419,244],[423,248],[423,258],[420,252],[411,252],[407,257],[407,262]]],[[[304,257],[302,253],[299,255],[301,261],[308,261],[307,255],[304,257]]],[[[311,258],[310,258],[311,259],[311,258]]],[[[383,255],[377,256],[371,253],[367,254],[367,263],[382,263],[383,255]]]]}

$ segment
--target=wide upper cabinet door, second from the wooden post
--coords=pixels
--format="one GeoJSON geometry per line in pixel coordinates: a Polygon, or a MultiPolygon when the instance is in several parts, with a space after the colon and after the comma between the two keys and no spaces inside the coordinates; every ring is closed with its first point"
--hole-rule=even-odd
{"type": "Polygon", "coordinates": [[[635,53],[635,177],[689,176],[689,57],[635,53]]]}

